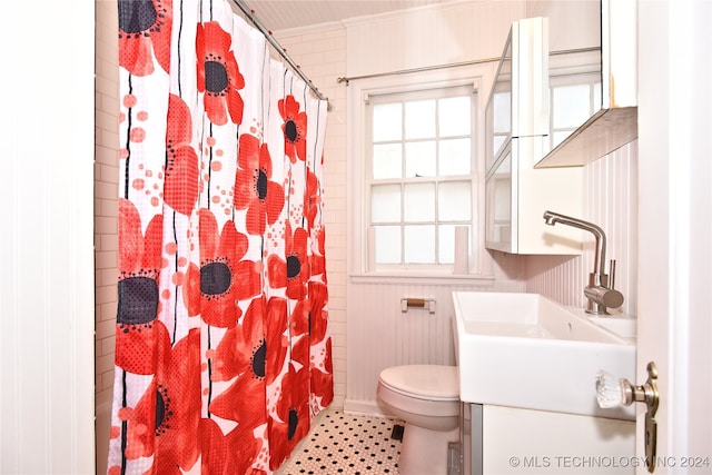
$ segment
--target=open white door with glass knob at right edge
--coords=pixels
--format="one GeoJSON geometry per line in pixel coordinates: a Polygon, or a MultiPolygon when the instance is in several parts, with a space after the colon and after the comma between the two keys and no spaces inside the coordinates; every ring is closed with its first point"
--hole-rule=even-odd
{"type": "MultiPolygon", "coordinates": [[[[637,9],[635,384],[645,382],[647,362],[655,362],[655,473],[711,473],[712,2],[640,1],[637,9]]],[[[637,457],[645,454],[643,413],[639,407],[637,457]]]]}

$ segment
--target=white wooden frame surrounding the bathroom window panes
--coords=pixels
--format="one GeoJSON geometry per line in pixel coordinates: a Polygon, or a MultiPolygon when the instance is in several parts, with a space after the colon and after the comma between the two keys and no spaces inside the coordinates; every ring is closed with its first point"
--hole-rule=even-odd
{"type": "Polygon", "coordinates": [[[492,280],[493,263],[484,246],[484,110],[491,88],[495,62],[471,65],[466,67],[445,68],[408,75],[393,75],[377,78],[359,79],[349,82],[347,91],[348,131],[347,160],[349,164],[347,190],[347,269],[352,278],[359,281],[382,281],[384,279],[406,279],[429,283],[449,283],[455,280],[471,281],[473,279],[492,280]],[[367,110],[369,97],[386,93],[419,91],[424,89],[451,88],[458,86],[472,87],[476,92],[473,133],[473,222],[471,232],[471,256],[468,274],[453,275],[452,266],[383,266],[369,268],[368,263],[368,229],[369,222],[369,189],[367,188],[367,110]]]}

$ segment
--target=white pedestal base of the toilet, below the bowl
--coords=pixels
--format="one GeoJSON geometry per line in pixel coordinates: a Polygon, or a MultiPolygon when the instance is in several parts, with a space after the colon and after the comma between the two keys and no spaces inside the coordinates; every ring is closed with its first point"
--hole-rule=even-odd
{"type": "Polygon", "coordinates": [[[398,473],[400,475],[447,475],[447,451],[459,441],[459,429],[431,431],[405,425],[398,473]]]}

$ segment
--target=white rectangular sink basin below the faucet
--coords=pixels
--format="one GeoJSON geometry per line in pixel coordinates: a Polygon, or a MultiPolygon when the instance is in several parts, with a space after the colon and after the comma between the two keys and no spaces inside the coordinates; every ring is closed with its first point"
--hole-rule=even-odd
{"type": "Polygon", "coordinates": [[[454,291],[453,301],[462,400],[635,419],[633,407],[600,408],[595,390],[599,369],[635,380],[634,339],[537,294],[454,291]]]}

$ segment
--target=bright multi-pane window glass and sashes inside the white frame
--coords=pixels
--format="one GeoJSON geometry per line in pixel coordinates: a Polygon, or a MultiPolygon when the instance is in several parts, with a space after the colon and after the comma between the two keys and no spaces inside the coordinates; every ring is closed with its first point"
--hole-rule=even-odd
{"type": "Polygon", "coordinates": [[[474,105],[472,85],[368,98],[365,217],[370,266],[452,268],[457,227],[467,229],[469,247],[475,229],[474,105]]]}

